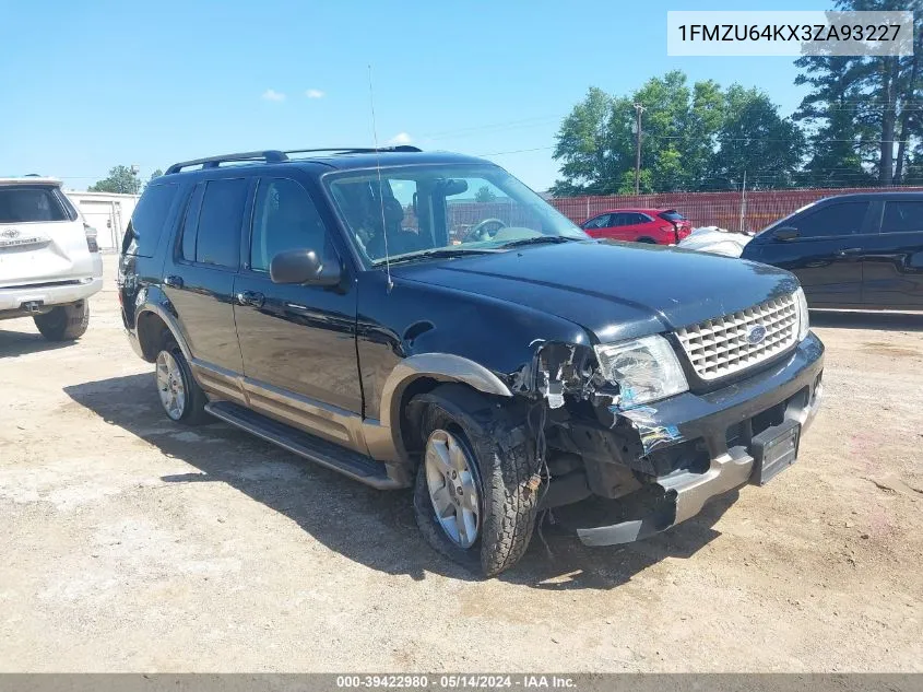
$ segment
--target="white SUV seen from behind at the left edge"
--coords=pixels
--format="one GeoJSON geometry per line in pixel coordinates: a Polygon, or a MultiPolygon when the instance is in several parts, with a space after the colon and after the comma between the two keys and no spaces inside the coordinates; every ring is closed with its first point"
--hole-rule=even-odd
{"type": "Polygon", "coordinates": [[[96,231],[61,181],[0,178],[0,319],[31,316],[46,339],[78,339],[102,288],[96,231]]]}

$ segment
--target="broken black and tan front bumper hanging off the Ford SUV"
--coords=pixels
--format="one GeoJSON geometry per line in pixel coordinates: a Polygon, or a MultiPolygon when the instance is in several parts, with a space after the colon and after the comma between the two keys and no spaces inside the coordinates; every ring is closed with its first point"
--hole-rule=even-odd
{"type": "Polygon", "coordinates": [[[786,468],[820,403],[823,354],[820,340],[809,335],[782,363],[723,389],[613,410],[608,429],[575,424],[596,494],[606,494],[599,481],[607,477],[606,465],[617,464],[642,479],[639,488],[653,497],[637,518],[578,528],[580,540],[640,540],[697,515],[712,497],[747,482],[762,484],[786,468]]]}

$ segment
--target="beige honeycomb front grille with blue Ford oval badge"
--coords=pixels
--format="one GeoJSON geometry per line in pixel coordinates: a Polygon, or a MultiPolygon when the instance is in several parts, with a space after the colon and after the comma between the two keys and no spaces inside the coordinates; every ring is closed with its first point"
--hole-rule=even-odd
{"type": "Polygon", "coordinates": [[[793,295],[772,298],[676,332],[693,368],[705,380],[758,365],[794,345],[797,335],[798,310],[793,295]],[[748,339],[755,327],[766,330],[758,343],[748,339]]]}

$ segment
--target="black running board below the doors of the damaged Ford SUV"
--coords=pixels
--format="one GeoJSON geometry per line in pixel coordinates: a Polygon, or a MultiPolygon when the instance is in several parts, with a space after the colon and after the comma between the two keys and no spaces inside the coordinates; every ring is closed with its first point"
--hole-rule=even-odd
{"type": "Polygon", "coordinates": [[[405,486],[388,478],[383,464],[372,461],[367,456],[345,449],[320,437],[303,433],[236,403],[215,401],[205,404],[205,411],[225,423],[230,423],[257,437],[262,437],[293,454],[297,454],[299,457],[339,471],[366,485],[371,485],[378,490],[393,490],[405,486]]]}

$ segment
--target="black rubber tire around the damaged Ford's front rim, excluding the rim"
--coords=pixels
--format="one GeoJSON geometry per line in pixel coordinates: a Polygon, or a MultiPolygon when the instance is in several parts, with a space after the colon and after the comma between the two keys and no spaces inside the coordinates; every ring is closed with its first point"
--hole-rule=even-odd
{"type": "Polygon", "coordinates": [[[424,450],[414,485],[414,514],[427,542],[485,577],[512,567],[529,547],[539,501],[539,492],[526,485],[534,461],[523,427],[513,426],[502,409],[461,385],[437,387],[414,397],[410,406],[423,407],[424,450]],[[441,444],[442,433],[451,435],[468,455],[477,491],[477,535],[469,546],[450,536],[437,517],[427,451],[430,441],[441,444]]]}

